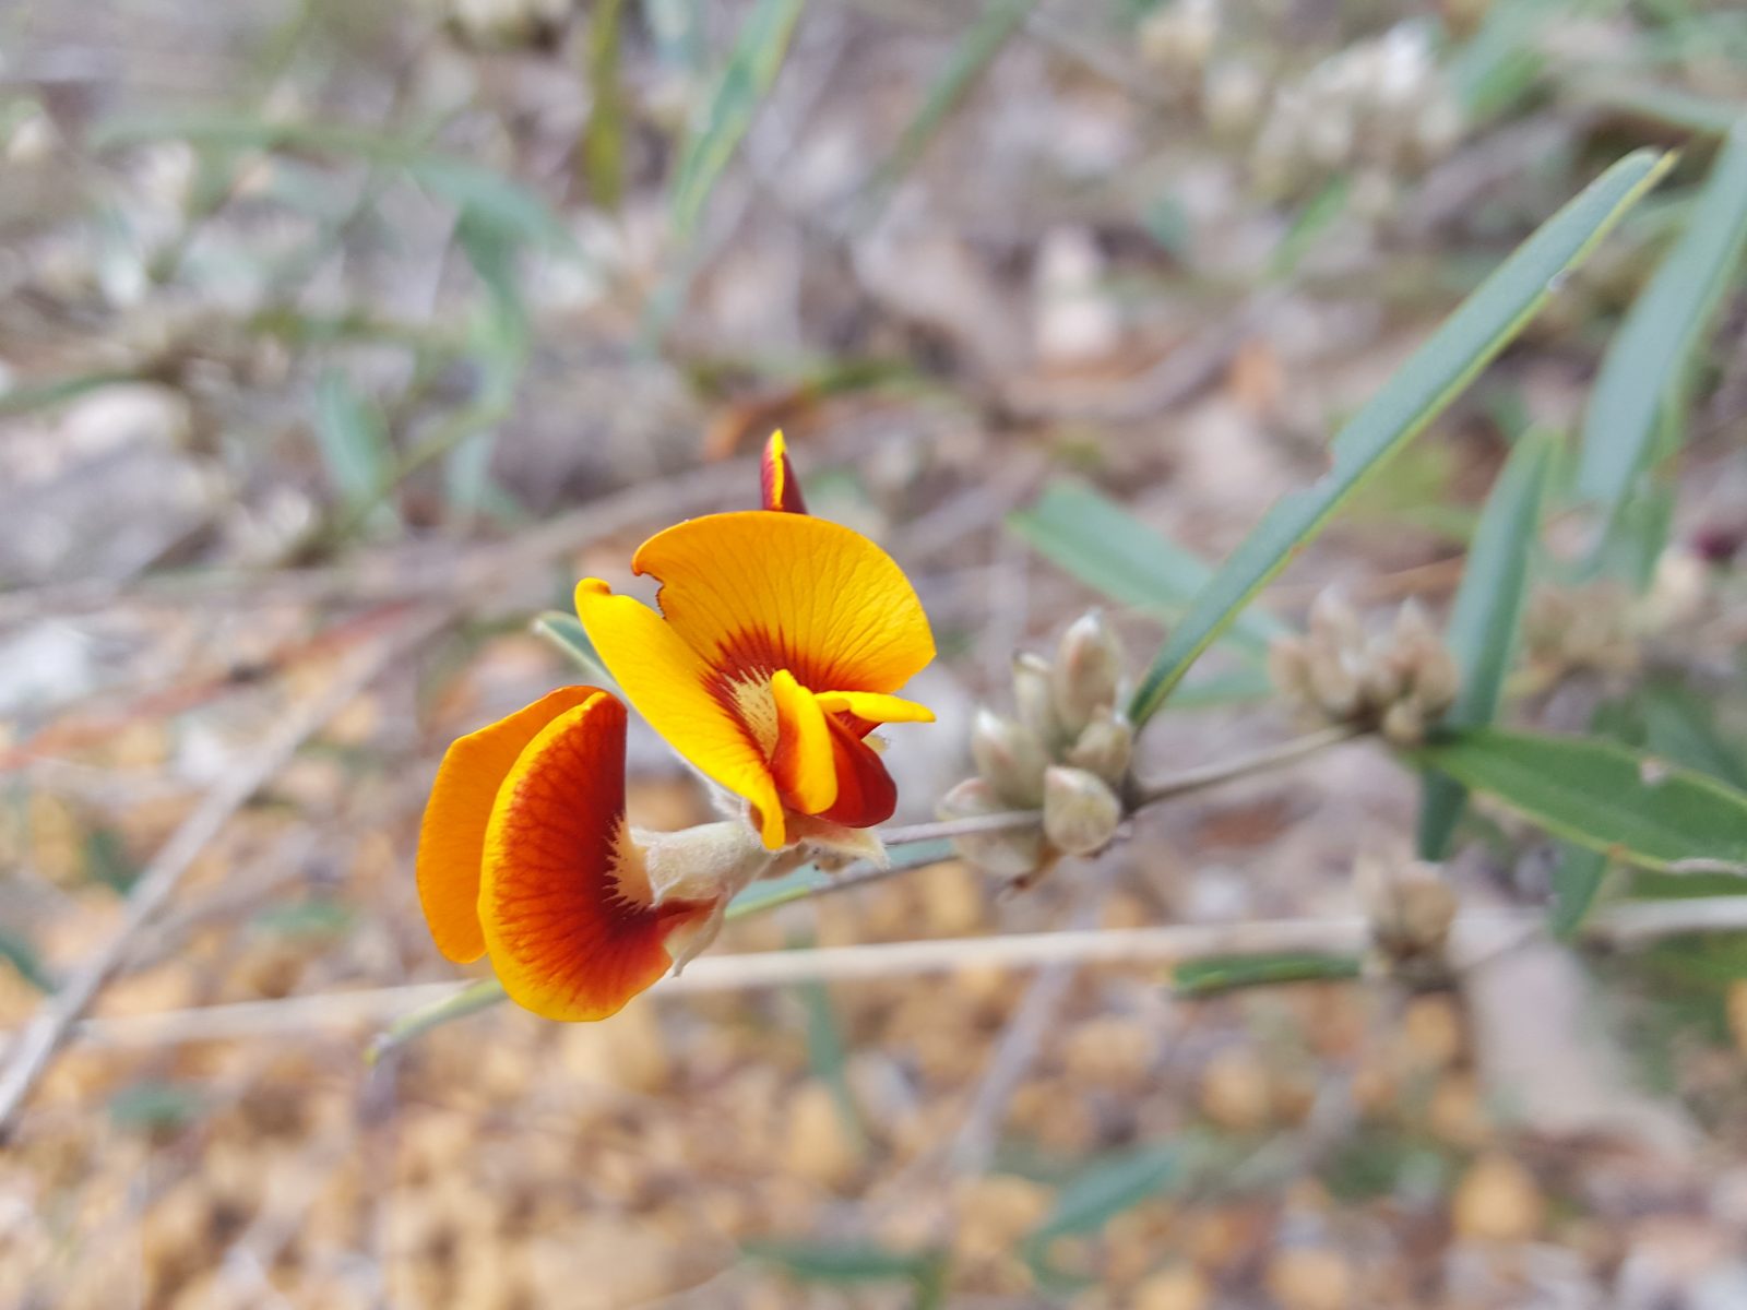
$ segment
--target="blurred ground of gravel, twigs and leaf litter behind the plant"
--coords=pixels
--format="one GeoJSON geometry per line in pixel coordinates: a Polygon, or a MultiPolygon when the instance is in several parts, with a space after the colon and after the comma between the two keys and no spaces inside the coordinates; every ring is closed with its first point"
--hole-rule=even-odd
{"type": "MultiPolygon", "coordinates": [[[[1426,996],[657,990],[365,1060],[458,973],[412,882],[442,749],[578,679],[529,620],[755,505],[772,428],[935,624],[889,753],[928,819],[1015,650],[1094,603],[1158,639],[1146,561],[1076,568],[1060,515],[1218,559],[1536,224],[1682,147],[1270,592],[1441,606],[1744,107],[1730,0],[0,7],[0,1027],[175,884],[0,1156],[0,1305],[1747,1305],[1733,940],[1426,996]]],[[[1742,325],[1668,587],[1747,534],[1742,325]]],[[[1583,727],[1607,632],[1562,658],[1583,727]]],[[[1289,730],[1216,655],[1148,765],[1289,730]]],[[[706,817],[638,734],[632,819],[706,817]]],[[[945,861],[715,950],[1349,914],[1415,795],[1345,746],[1022,894],[945,861]]],[[[1473,894],[1536,903],[1501,849],[1473,894]]]]}

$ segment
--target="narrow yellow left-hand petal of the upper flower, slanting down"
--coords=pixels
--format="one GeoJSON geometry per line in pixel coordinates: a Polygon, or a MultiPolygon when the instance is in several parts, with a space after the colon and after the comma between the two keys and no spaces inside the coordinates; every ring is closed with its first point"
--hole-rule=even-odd
{"type": "Polygon", "coordinates": [[[706,777],[749,800],[765,845],[783,845],[776,779],[758,742],[728,709],[718,672],[660,615],[631,596],[613,596],[599,578],[577,583],[577,617],[648,725],[706,777]]]}

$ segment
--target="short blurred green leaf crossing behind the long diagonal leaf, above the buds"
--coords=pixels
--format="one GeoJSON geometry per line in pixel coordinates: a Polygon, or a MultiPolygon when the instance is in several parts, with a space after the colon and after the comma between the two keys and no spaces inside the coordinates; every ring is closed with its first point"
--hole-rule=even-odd
{"type": "MultiPolygon", "coordinates": [[[[1006,517],[1025,545],[1120,604],[1172,618],[1207,585],[1212,566],[1160,536],[1109,496],[1085,482],[1060,479],[1036,505],[1006,517]]],[[[1291,629],[1263,610],[1247,610],[1232,641],[1267,655],[1274,638],[1291,629]]]]}

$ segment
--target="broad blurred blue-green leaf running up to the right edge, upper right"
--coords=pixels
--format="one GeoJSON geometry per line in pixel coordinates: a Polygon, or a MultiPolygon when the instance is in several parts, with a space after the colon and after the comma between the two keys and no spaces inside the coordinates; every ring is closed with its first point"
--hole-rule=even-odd
{"type": "Polygon", "coordinates": [[[1674,250],[1602,358],[1583,423],[1578,491],[1619,514],[1656,444],[1658,417],[1705,341],[1747,245],[1747,117],[1723,141],[1674,250]]]}

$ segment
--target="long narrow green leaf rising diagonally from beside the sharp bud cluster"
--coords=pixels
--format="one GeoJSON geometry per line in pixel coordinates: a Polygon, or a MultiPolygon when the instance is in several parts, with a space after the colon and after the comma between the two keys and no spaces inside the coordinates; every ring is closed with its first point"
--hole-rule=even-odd
{"type": "Polygon", "coordinates": [[[1331,445],[1333,468],[1315,486],[1275,503],[1195,597],[1134,695],[1129,716],[1137,725],[1153,716],[1202,652],[1347,498],[1522,332],[1668,162],[1660,152],[1637,150],[1609,168],[1518,246],[1342,428],[1331,445]]]}

